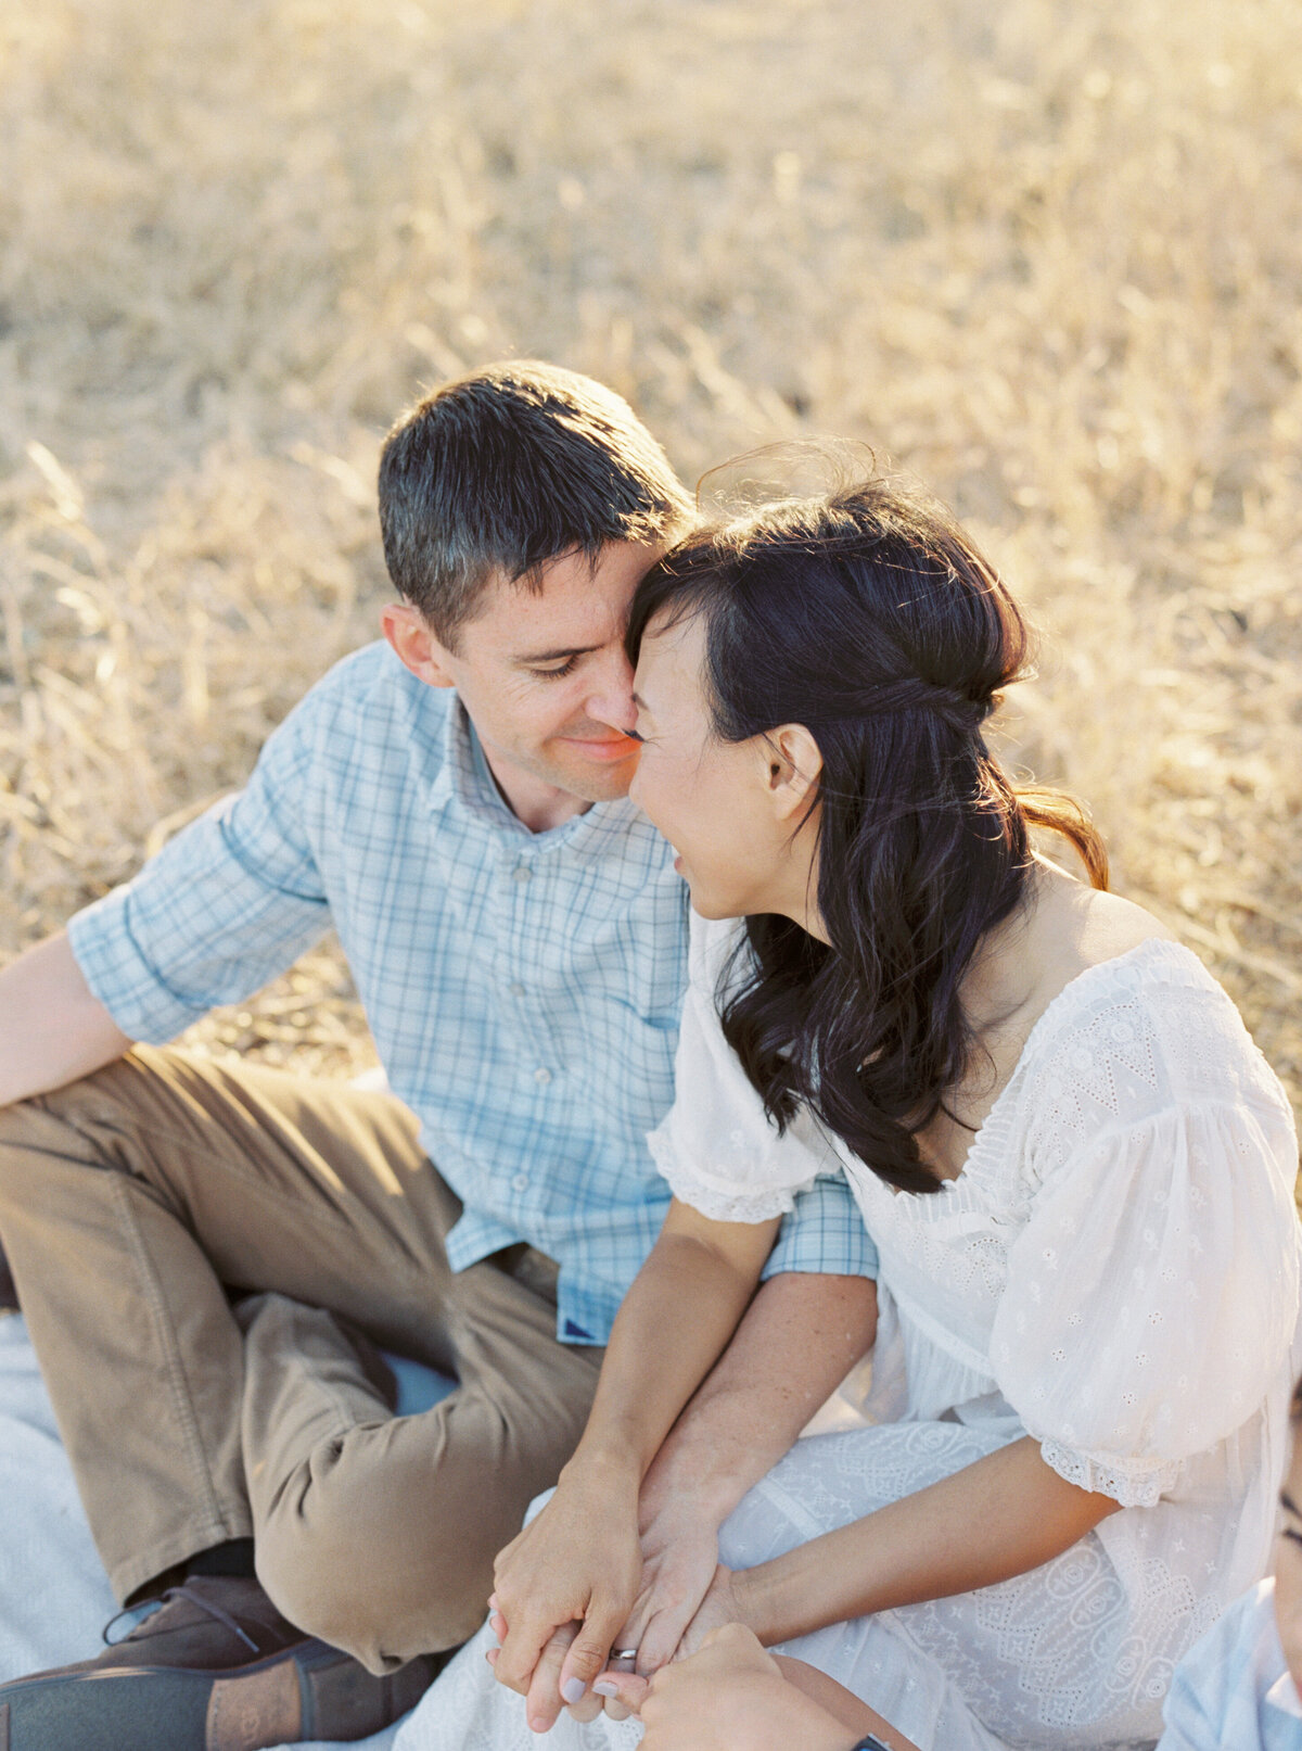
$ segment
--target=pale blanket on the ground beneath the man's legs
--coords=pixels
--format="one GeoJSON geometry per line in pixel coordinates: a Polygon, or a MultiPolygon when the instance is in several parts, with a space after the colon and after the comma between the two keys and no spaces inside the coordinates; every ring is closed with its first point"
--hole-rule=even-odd
{"type": "MultiPolygon", "coordinates": [[[[441,1396],[427,1369],[411,1362],[397,1373],[401,1410],[422,1408],[411,1396],[425,1404],[441,1396]]],[[[116,1609],[26,1327],[0,1317],[0,1683],[93,1658],[116,1609]]],[[[352,1751],[390,1751],[396,1733],[397,1725],[352,1751]]]]}

